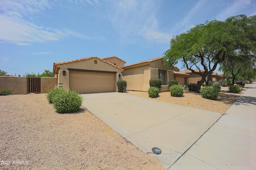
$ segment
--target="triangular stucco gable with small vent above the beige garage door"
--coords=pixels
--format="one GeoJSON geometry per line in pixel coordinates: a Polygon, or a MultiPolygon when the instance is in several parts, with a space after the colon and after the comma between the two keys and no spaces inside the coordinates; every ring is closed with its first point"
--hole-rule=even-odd
{"type": "Polygon", "coordinates": [[[99,71],[116,71],[117,73],[122,73],[122,70],[98,58],[60,64],[60,65],[56,65],[56,67],[59,67],[60,70],[68,70],[68,68],[70,68],[70,69],[86,69],[86,70],[99,70],[99,71]],[[94,64],[95,60],[97,61],[97,64],[94,64]]]}

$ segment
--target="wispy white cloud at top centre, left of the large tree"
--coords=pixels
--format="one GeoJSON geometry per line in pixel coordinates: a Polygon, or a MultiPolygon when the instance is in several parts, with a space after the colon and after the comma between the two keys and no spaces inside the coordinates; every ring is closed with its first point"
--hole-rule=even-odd
{"type": "Polygon", "coordinates": [[[141,37],[148,42],[169,42],[170,34],[159,27],[156,1],[120,0],[115,4],[114,14],[109,17],[122,42],[140,42],[141,37]]]}

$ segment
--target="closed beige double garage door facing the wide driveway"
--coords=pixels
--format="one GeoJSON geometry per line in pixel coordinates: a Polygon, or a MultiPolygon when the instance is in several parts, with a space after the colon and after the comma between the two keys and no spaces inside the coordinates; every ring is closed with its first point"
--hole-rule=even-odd
{"type": "Polygon", "coordinates": [[[69,72],[69,88],[79,93],[115,91],[115,75],[110,73],[69,72]]]}

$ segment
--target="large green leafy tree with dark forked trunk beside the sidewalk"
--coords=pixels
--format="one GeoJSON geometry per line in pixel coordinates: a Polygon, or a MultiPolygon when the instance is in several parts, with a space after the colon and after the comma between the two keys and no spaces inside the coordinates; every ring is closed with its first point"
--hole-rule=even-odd
{"type": "Polygon", "coordinates": [[[241,50],[254,57],[256,49],[256,16],[232,16],[225,21],[212,20],[196,25],[186,33],[174,36],[170,40],[170,49],[164,53],[165,64],[172,67],[183,62],[183,67],[202,77],[196,85],[199,93],[206,77],[213,73],[218,63],[230,57],[229,53],[241,50]],[[204,72],[196,72],[196,67],[204,72]]]}

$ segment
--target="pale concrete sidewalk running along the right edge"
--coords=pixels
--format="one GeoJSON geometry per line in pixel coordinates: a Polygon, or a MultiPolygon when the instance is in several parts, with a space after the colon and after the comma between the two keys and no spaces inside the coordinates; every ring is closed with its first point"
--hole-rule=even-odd
{"type": "Polygon", "coordinates": [[[256,83],[170,169],[255,170],[256,83]]]}

